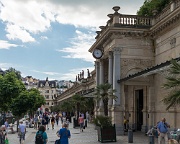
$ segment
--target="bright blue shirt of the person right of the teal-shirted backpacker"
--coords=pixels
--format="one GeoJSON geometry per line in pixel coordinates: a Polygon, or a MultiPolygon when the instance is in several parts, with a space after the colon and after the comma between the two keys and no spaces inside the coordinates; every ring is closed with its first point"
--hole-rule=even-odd
{"type": "Polygon", "coordinates": [[[71,133],[68,129],[61,128],[59,130],[59,135],[60,135],[61,144],[69,144],[68,138],[71,136],[71,133]]]}

